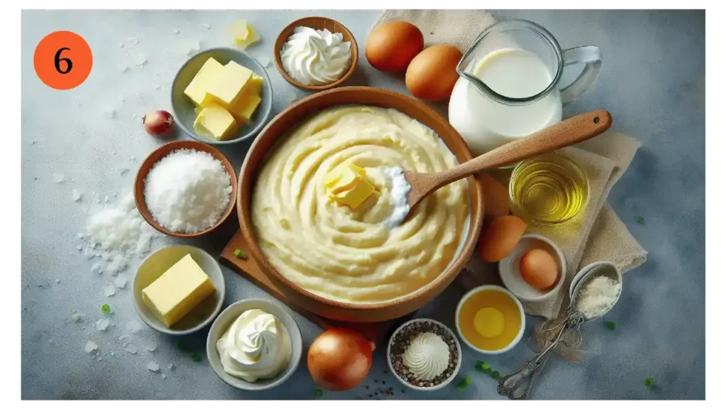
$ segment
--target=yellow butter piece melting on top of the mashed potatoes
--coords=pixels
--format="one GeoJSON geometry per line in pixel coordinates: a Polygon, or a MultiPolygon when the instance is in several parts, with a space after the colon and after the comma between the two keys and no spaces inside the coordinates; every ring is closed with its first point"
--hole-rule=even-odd
{"type": "Polygon", "coordinates": [[[326,175],[324,184],[329,189],[329,196],[352,209],[356,209],[376,190],[366,178],[366,170],[350,163],[326,175]]]}

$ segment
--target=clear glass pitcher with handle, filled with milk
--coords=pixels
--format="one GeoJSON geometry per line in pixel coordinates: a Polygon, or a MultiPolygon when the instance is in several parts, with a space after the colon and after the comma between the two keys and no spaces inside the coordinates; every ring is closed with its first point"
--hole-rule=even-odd
{"type": "Polygon", "coordinates": [[[457,65],[449,123],[473,154],[505,145],[561,122],[563,104],[579,97],[601,72],[598,47],[561,49],[553,34],[526,20],[505,20],[483,31],[457,65]],[[563,68],[585,63],[571,84],[563,68]]]}

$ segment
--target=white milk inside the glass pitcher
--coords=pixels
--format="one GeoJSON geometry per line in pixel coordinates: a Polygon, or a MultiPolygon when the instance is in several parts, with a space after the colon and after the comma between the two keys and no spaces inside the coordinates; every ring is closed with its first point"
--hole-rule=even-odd
{"type": "MultiPolygon", "coordinates": [[[[553,74],[537,55],[526,49],[504,48],[473,61],[470,74],[491,90],[510,98],[528,98],[545,90],[553,74]]],[[[512,140],[561,122],[561,93],[523,105],[498,102],[460,77],[449,100],[449,123],[465,138],[473,154],[483,154],[512,140]]]]}

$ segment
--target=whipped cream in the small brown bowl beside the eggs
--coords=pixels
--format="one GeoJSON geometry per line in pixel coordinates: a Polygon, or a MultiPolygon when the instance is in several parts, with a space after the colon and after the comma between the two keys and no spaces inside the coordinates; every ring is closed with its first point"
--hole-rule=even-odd
{"type": "Polygon", "coordinates": [[[327,28],[296,27],[280,52],[283,68],[297,82],[326,85],[340,79],[351,66],[351,43],[327,28]]]}

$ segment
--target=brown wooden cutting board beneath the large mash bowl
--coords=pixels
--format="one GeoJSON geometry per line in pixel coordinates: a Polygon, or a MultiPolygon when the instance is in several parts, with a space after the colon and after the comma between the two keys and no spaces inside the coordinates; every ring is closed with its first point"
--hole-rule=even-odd
{"type": "Polygon", "coordinates": [[[257,266],[257,263],[254,263],[254,261],[251,261],[249,259],[250,256],[248,256],[247,260],[238,258],[235,255],[236,249],[240,249],[242,252],[248,255],[250,254],[239,230],[235,233],[235,236],[230,240],[228,245],[225,246],[225,250],[222,251],[222,255],[220,255],[220,262],[225,264],[225,266],[227,266],[232,271],[240,274],[242,277],[249,279],[255,285],[261,287],[263,290],[270,293],[270,295],[278,298],[278,300],[282,301],[287,306],[294,309],[294,311],[297,311],[303,317],[310,319],[310,321],[316,323],[324,329],[330,327],[349,328],[351,330],[358,331],[358,333],[366,335],[366,337],[371,339],[371,341],[374,341],[377,346],[380,346],[384,345],[382,341],[385,341],[389,333],[393,331],[396,327],[398,327],[399,323],[403,323],[411,319],[411,317],[414,315],[414,313],[411,313],[409,315],[406,315],[405,317],[384,322],[343,322],[329,319],[326,317],[321,317],[303,309],[301,306],[291,303],[291,301],[286,298],[283,293],[281,293],[281,290],[276,287],[276,284],[270,281],[268,275],[260,270],[260,268],[257,266]]]}

